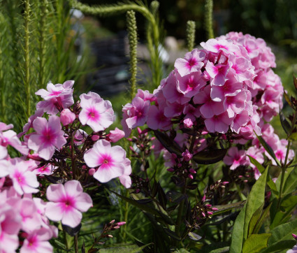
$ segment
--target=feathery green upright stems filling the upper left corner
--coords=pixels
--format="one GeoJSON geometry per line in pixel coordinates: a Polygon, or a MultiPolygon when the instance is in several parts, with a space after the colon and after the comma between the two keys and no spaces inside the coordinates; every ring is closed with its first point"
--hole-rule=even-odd
{"type": "Polygon", "coordinates": [[[64,0],[0,1],[0,9],[0,120],[21,131],[40,99],[34,93],[50,80],[78,81],[85,52],[78,59],[80,34],[64,0]]]}

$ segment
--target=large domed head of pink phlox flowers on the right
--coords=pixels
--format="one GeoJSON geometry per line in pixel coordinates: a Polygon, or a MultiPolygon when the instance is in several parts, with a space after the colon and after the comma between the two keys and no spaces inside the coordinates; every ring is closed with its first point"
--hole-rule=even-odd
{"type": "MultiPolygon", "coordinates": [[[[267,129],[272,128],[266,122],[282,108],[283,88],[280,77],[273,73],[275,66],[275,56],[261,38],[231,32],[203,42],[201,49],[176,59],[175,68],[153,94],[138,89],[135,98],[122,109],[125,135],[144,124],[149,129],[167,132],[168,138],[181,147],[182,154],[165,150],[157,140],[154,152],[165,150],[168,171],[186,170],[188,178],[193,178],[195,171],[189,172],[188,165],[184,168],[182,164],[187,164],[196,153],[208,150],[208,143],[213,145],[215,136],[225,143],[239,143],[241,148],[252,140],[254,146],[246,150],[231,147],[224,162],[231,170],[252,166],[258,178],[259,171],[247,157],[248,154],[260,163],[264,161],[265,150],[256,135],[263,135],[268,144],[273,142],[272,148],[280,160],[284,160],[287,145],[273,131],[266,136],[267,129]]],[[[292,156],[290,151],[289,159],[292,156]]]]}

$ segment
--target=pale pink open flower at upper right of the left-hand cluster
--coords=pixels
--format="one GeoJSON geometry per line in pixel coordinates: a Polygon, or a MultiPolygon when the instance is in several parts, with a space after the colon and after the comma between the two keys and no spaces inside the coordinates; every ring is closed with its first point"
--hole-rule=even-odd
{"type": "Polygon", "coordinates": [[[93,131],[103,131],[115,121],[115,115],[110,101],[105,101],[94,93],[80,95],[80,106],[82,110],[78,115],[80,122],[93,129],[93,131]]]}

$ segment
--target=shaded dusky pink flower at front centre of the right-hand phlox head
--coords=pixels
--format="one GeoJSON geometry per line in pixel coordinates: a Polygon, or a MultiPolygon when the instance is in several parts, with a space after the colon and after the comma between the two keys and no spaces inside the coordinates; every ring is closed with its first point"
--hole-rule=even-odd
{"type": "Polygon", "coordinates": [[[212,101],[210,97],[210,85],[206,86],[203,91],[196,94],[193,101],[196,104],[202,104],[200,112],[206,119],[224,113],[223,103],[212,101]]]}

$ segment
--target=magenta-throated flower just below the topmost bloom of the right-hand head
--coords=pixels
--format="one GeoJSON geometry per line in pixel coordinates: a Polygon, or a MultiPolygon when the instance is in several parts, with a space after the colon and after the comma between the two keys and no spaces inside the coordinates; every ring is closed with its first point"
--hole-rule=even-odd
{"type": "Polygon", "coordinates": [[[228,79],[226,77],[227,73],[229,72],[230,66],[229,65],[221,65],[221,64],[213,64],[212,62],[209,62],[205,66],[205,70],[210,75],[210,78],[212,78],[212,85],[222,86],[228,79]]]}

